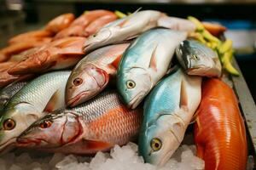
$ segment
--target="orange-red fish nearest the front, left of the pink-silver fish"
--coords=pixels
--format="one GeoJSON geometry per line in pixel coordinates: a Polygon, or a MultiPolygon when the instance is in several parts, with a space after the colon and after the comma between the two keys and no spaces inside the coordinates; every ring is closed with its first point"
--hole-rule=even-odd
{"type": "Polygon", "coordinates": [[[82,46],[85,40],[84,37],[65,37],[45,44],[29,53],[26,59],[10,68],[8,73],[17,75],[70,68],[83,58],[82,46]]]}

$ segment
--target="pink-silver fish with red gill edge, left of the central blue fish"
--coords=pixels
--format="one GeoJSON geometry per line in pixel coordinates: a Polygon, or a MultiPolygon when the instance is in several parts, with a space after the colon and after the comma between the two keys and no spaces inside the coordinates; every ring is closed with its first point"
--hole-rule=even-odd
{"type": "Polygon", "coordinates": [[[66,85],[66,104],[73,107],[101,93],[116,76],[119,61],[129,43],[98,48],[75,66],[66,85]]]}

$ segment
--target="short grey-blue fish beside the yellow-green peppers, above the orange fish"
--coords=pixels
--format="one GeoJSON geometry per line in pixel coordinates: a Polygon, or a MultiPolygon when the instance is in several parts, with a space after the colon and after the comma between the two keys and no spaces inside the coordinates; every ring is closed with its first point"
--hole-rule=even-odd
{"type": "Polygon", "coordinates": [[[189,75],[220,77],[221,64],[218,54],[201,42],[184,40],[176,48],[179,63],[189,75]]]}

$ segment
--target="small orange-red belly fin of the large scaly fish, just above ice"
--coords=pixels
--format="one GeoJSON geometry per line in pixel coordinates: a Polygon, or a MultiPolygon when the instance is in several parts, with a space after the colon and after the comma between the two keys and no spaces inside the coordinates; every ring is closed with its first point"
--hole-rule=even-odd
{"type": "Polygon", "coordinates": [[[86,144],[86,148],[90,150],[107,150],[113,146],[113,144],[109,144],[107,142],[90,139],[84,139],[83,143],[86,144]]]}

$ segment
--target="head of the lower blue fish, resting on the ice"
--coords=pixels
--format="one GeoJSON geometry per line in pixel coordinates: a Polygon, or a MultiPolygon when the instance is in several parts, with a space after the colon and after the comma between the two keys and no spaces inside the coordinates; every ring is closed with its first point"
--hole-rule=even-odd
{"type": "Polygon", "coordinates": [[[184,130],[183,123],[171,115],[159,116],[154,122],[143,122],[139,154],[146,162],[160,167],[165,165],[181,144],[184,130]]]}

